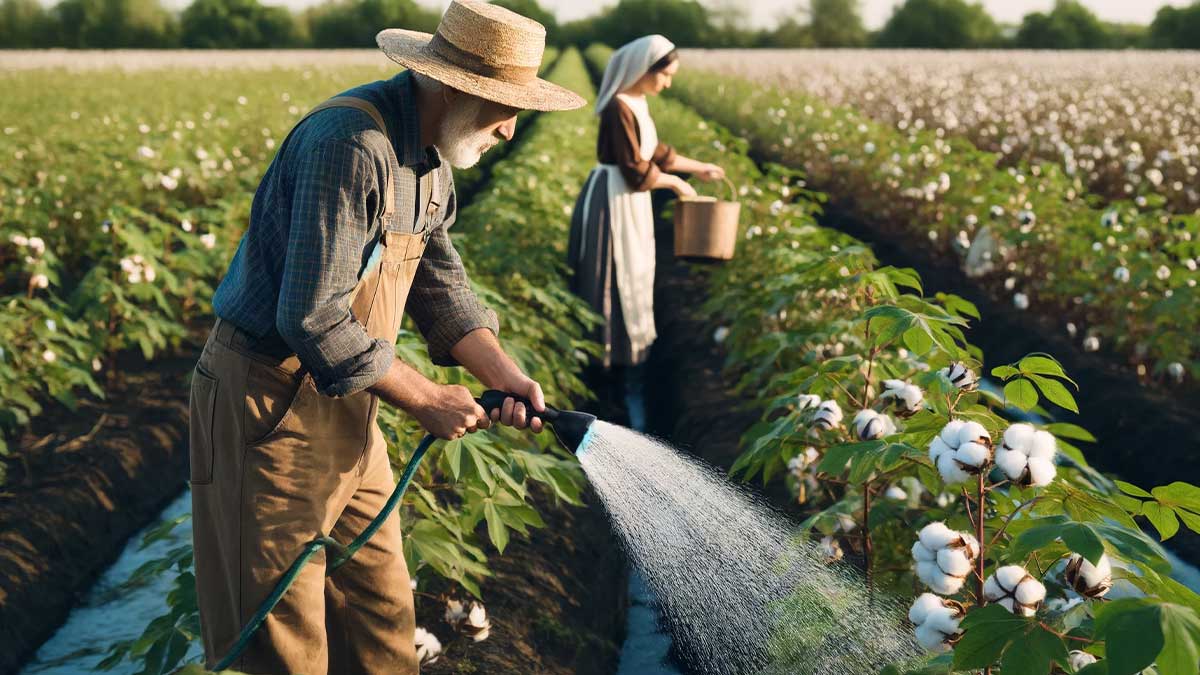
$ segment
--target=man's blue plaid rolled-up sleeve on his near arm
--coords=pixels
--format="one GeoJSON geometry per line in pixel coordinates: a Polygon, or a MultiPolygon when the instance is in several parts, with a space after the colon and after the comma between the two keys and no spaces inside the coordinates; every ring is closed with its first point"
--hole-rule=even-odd
{"type": "Polygon", "coordinates": [[[395,358],[350,313],[379,195],[376,161],[354,141],[324,141],[296,166],[275,324],[328,396],[374,384],[395,358]]]}

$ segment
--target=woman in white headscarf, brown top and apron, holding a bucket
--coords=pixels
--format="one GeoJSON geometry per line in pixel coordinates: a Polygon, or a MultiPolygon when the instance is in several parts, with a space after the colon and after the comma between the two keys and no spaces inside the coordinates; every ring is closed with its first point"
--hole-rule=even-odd
{"type": "Polygon", "coordinates": [[[679,173],[704,180],[725,177],[721,167],[659,143],[646,97],[671,86],[678,70],[679,55],[670,40],[637,38],[613,53],[596,97],[600,165],[575,202],[568,263],[575,269],[571,289],[604,317],[596,340],[604,346],[605,369],[641,364],[656,336],[650,190],[695,196],[679,173]]]}

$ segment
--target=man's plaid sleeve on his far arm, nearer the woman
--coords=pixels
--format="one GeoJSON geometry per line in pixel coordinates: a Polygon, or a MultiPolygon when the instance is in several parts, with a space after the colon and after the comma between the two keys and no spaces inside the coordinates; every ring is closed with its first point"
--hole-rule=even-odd
{"type": "Polygon", "coordinates": [[[450,350],[468,333],[480,328],[493,334],[500,330],[496,312],[470,289],[462,258],[450,241],[448,229],[456,217],[457,202],[451,192],[446,217],[430,234],[408,293],[408,316],[425,336],[430,358],[437,365],[458,365],[450,350]]]}

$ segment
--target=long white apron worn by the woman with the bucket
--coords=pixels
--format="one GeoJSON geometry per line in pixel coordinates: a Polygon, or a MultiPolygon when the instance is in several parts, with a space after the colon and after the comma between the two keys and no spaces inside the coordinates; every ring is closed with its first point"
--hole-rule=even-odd
{"type": "MultiPolygon", "coordinates": [[[[618,94],[634,112],[638,129],[638,155],[649,161],[659,145],[659,132],[650,119],[649,107],[644,96],[618,94]]],[[[629,333],[631,351],[640,354],[648,350],[658,338],[654,328],[654,207],[650,204],[650,192],[630,190],[625,177],[617,165],[599,165],[588,180],[588,193],[583,202],[583,213],[589,214],[595,181],[608,181],[608,222],[612,227],[612,258],[617,268],[617,294],[620,298],[620,310],[625,317],[625,330],[629,333]],[[600,175],[596,175],[596,174],[600,175]]],[[[587,219],[584,219],[586,221],[587,219]]],[[[587,245],[587,233],[583,241],[587,245]]],[[[581,251],[580,258],[582,259],[581,251]]]]}

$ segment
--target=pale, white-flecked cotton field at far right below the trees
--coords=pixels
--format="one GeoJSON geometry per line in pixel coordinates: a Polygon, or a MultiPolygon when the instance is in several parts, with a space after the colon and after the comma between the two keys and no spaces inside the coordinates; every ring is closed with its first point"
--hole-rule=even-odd
{"type": "Polygon", "coordinates": [[[1186,53],[689,50],[689,64],[800,89],[900,131],[961,136],[1003,166],[1062,166],[1079,191],[1200,208],[1200,80],[1186,53]]]}

